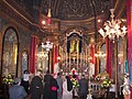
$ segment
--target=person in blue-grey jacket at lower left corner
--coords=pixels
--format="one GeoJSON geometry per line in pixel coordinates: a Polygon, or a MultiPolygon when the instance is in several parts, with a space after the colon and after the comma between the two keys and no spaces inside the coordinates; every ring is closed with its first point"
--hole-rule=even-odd
{"type": "Polygon", "coordinates": [[[20,86],[20,84],[21,84],[21,79],[15,78],[13,86],[9,88],[10,99],[24,99],[28,96],[26,91],[24,90],[24,87],[20,86]]]}

